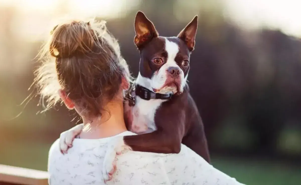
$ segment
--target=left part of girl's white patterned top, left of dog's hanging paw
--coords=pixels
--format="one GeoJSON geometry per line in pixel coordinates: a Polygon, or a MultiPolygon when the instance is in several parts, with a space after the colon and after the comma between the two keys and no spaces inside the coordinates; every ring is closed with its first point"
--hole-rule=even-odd
{"type": "MultiPolygon", "coordinates": [[[[126,131],[119,135],[131,135],[131,132],[126,131]]],[[[106,144],[113,137],[74,139],[73,147],[64,155],[59,150],[59,140],[56,140],[49,151],[49,184],[102,184],[101,167],[106,144]]]]}

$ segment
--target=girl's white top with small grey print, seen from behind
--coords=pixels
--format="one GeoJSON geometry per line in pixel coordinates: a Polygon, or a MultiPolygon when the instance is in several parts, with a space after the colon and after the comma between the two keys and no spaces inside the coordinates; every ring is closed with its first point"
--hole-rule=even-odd
{"type": "MultiPolygon", "coordinates": [[[[126,131],[116,136],[124,135],[135,134],[126,131]]],[[[74,139],[65,155],[59,151],[56,140],[49,151],[49,184],[105,184],[101,170],[107,143],[113,137],[74,139]]],[[[183,144],[179,154],[127,151],[118,156],[116,166],[113,179],[107,181],[109,185],[242,185],[183,144]]]]}

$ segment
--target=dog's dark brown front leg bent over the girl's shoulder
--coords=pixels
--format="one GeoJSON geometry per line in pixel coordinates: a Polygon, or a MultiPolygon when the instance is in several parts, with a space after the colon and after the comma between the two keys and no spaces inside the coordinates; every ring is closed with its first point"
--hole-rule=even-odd
{"type": "Polygon", "coordinates": [[[154,117],[157,130],[147,134],[125,136],[124,143],[134,151],[179,153],[185,134],[185,114],[181,109],[161,108],[154,117]]]}

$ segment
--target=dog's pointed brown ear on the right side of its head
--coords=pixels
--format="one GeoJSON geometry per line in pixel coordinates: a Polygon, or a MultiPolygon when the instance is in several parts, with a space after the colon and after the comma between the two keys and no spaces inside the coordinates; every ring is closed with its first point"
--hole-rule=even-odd
{"type": "Polygon", "coordinates": [[[178,38],[182,39],[186,43],[186,45],[187,45],[190,52],[194,50],[196,34],[197,34],[197,15],[178,34],[178,38]]]}

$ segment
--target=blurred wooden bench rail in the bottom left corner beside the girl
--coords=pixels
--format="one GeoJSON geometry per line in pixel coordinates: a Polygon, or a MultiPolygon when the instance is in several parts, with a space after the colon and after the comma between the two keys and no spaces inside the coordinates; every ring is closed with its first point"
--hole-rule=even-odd
{"type": "Polygon", "coordinates": [[[46,171],[0,165],[0,185],[48,185],[46,171]]]}

